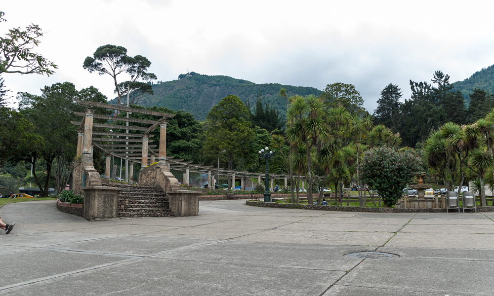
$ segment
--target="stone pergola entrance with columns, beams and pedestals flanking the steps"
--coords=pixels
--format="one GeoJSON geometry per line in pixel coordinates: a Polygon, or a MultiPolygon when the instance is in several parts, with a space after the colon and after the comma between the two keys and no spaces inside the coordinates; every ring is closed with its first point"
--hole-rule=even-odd
{"type": "MultiPolygon", "coordinates": [[[[77,100],[77,102],[87,106],[85,112],[74,112],[75,115],[82,116],[82,120],[72,122],[79,125],[73,190],[76,194],[82,193],[84,195],[84,218],[117,217],[118,193],[121,188],[109,186],[111,156],[116,156],[130,163],[140,162],[139,185],[161,188],[168,197],[170,209],[175,216],[198,215],[200,192],[180,190],[178,180],[170,173],[169,164],[166,162],[166,123],[174,114],[90,101],[77,100]],[[140,113],[152,115],[158,119],[146,120],[95,114],[92,108],[140,113]],[[95,123],[94,119],[100,119],[104,123],[95,123]],[[119,122],[126,122],[126,125],[117,124],[119,122]],[[129,126],[129,122],[137,123],[139,126],[129,126]],[[160,127],[158,150],[152,149],[156,145],[149,145],[153,142],[149,139],[151,132],[157,127],[160,127]],[[101,130],[93,131],[93,128],[101,130]],[[100,174],[94,168],[93,147],[106,153],[104,179],[107,180],[106,182],[102,182],[100,174]],[[158,162],[154,163],[156,154],[158,155],[158,162]]],[[[132,181],[132,168],[131,165],[130,181],[132,181]]]]}

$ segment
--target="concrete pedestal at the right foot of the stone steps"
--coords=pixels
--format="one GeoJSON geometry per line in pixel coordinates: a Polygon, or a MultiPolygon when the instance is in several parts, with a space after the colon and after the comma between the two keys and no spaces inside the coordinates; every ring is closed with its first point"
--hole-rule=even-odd
{"type": "Polygon", "coordinates": [[[175,217],[199,215],[199,191],[177,190],[168,192],[170,210],[175,217]]]}

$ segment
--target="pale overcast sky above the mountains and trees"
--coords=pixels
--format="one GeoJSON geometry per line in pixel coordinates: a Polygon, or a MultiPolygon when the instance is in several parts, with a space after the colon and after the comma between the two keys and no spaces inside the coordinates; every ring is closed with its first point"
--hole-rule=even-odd
{"type": "MultiPolygon", "coordinates": [[[[381,90],[409,80],[430,82],[434,71],[463,80],[494,64],[494,2],[435,0],[22,0],[2,1],[8,29],[37,24],[36,52],[56,74],[3,74],[15,96],[45,85],[93,85],[113,98],[109,75],[82,68],[105,44],[143,55],[158,80],[194,71],[255,83],[355,85],[371,113],[381,90]]],[[[121,81],[128,77],[122,77],[121,81]]],[[[288,94],[292,95],[292,94],[288,94]]],[[[242,99],[242,98],[241,98],[242,99]]]]}

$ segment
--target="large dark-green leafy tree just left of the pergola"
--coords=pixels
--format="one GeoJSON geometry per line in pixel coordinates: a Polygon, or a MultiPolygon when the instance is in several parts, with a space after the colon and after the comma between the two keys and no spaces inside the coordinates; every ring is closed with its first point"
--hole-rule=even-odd
{"type": "MultiPolygon", "coordinates": [[[[96,90],[89,88],[85,94],[96,90]]],[[[87,95],[86,99],[99,100],[101,94],[87,95]]],[[[45,162],[46,180],[41,180],[36,173],[33,177],[40,187],[41,196],[48,195],[48,187],[51,182],[52,171],[56,172],[57,189],[59,190],[68,177],[70,163],[75,157],[77,147],[77,126],[71,121],[77,121],[74,111],[82,111],[83,107],[75,100],[79,92],[70,82],[55,83],[45,86],[41,95],[20,93],[18,99],[20,112],[32,122],[35,132],[42,138],[42,144],[33,145],[19,151],[15,159],[24,160],[36,166],[38,160],[45,162]],[[42,182],[42,183],[41,183],[42,182]]]]}

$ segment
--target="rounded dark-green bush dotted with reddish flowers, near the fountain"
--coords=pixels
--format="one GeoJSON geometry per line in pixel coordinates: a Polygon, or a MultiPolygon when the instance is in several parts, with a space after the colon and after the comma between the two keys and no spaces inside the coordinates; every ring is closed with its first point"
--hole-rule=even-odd
{"type": "Polygon", "coordinates": [[[403,188],[417,174],[421,159],[411,150],[395,151],[391,148],[372,148],[364,152],[360,163],[361,178],[377,190],[388,207],[403,195],[403,188]]]}

